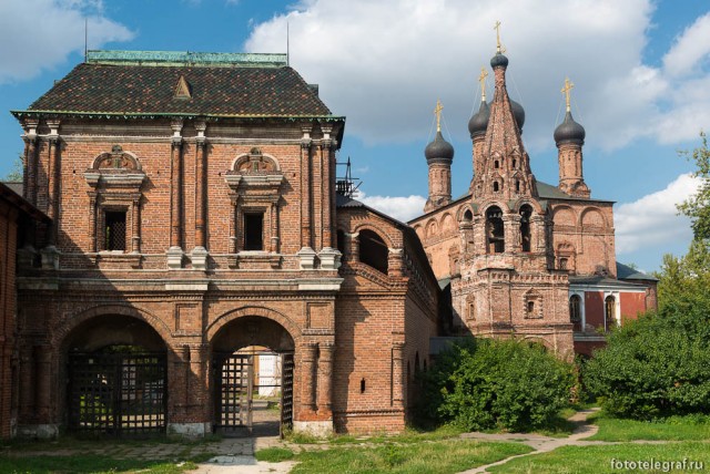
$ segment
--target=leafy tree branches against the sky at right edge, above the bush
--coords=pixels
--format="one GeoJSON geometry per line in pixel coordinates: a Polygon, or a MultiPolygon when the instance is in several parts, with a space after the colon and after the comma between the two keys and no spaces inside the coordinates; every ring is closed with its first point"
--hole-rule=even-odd
{"type": "Polygon", "coordinates": [[[692,152],[682,151],[681,156],[696,162],[697,169],[692,174],[700,178],[698,193],[678,205],[681,214],[692,220],[696,240],[710,239],[710,148],[704,132],[700,132],[702,144],[692,152]]]}

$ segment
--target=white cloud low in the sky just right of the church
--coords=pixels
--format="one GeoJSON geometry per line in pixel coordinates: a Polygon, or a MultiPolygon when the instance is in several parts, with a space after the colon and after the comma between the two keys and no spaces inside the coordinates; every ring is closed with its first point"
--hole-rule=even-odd
{"type": "Polygon", "coordinates": [[[679,216],[676,204],[698,192],[700,178],[682,174],[665,189],[621,204],[615,210],[617,253],[629,254],[645,247],[690,241],[690,220],[679,216]]]}

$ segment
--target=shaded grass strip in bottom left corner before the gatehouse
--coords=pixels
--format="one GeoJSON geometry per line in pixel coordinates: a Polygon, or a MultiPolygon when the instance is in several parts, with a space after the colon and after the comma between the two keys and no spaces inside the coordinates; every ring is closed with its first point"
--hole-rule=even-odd
{"type": "Polygon", "coordinates": [[[1,473],[182,473],[194,462],[115,460],[97,454],[72,456],[0,456],[1,473]]]}

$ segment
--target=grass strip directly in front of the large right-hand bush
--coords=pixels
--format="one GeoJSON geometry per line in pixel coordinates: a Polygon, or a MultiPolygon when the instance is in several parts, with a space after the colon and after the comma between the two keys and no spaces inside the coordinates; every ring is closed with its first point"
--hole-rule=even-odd
{"type": "Polygon", "coordinates": [[[671,416],[661,421],[621,420],[604,412],[589,418],[599,426],[594,441],[703,441],[710,440],[710,416],[671,416]]]}

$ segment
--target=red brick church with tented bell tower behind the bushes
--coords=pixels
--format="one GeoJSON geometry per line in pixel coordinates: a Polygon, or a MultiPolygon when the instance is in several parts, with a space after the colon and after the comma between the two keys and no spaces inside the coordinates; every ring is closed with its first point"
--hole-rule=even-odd
{"type": "Polygon", "coordinates": [[[506,91],[507,64],[500,53],[491,60],[494,99],[469,122],[470,194],[429,204],[433,189],[450,189],[432,184],[433,163],[440,159],[430,156],[429,145],[426,214],[409,224],[437,278],[450,281],[449,331],[537,340],[570,359],[600,347],[599,329],[611,321],[655,308],[655,282],[617,279],[612,203],[590,197],[585,131],[569,110],[555,132],[559,186],[536,181],[520,135],[525,114],[506,91]],[[608,310],[616,312],[607,317],[608,310]]]}

